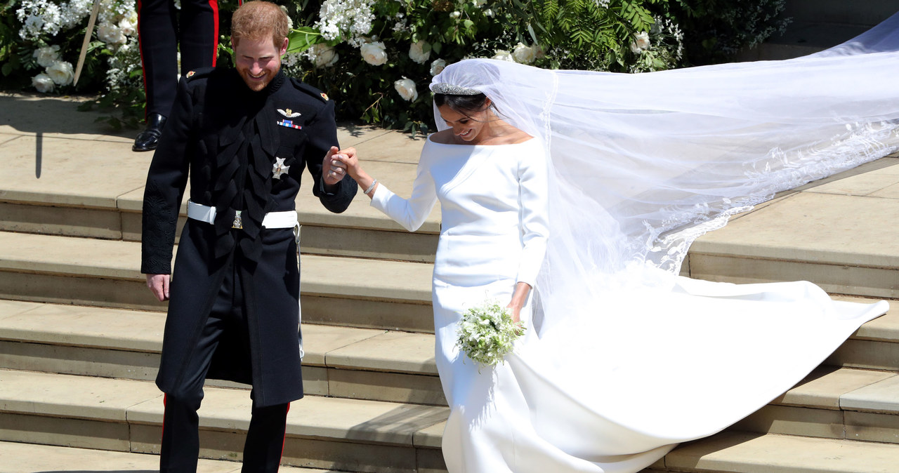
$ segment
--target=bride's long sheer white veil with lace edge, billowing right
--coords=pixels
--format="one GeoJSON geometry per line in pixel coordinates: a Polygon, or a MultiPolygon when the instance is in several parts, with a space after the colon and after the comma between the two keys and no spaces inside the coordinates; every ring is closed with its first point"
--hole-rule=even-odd
{"type": "Polygon", "coordinates": [[[592,288],[676,274],[694,239],[775,192],[894,152],[897,50],[899,13],[790,60],[611,74],[472,59],[433,82],[484,92],[545,143],[552,232],[538,286],[558,314],[592,288]]]}

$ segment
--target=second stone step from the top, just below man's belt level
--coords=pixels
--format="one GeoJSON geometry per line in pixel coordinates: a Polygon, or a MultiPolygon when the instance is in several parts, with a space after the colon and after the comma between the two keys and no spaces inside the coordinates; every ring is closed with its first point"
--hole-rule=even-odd
{"type": "MultiPolygon", "coordinates": [[[[0,298],[164,311],[147,290],[139,255],[132,241],[0,232],[0,298]]],[[[301,261],[305,321],[433,331],[431,265],[320,255],[301,261]]]]}

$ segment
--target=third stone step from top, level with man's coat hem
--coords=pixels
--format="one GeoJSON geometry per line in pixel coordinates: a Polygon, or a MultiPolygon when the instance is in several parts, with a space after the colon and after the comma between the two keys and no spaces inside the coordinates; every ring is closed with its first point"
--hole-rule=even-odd
{"type": "MultiPolygon", "coordinates": [[[[153,381],[164,325],[161,312],[0,301],[0,368],[153,381]]],[[[309,395],[446,405],[430,334],[306,323],[303,339],[309,395]]]]}

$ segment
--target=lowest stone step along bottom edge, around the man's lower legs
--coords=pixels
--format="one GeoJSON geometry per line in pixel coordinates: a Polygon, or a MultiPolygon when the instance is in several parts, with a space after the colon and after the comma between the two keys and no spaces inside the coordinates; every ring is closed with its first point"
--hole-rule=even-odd
{"type": "MultiPolygon", "coordinates": [[[[159,469],[159,456],[125,451],[103,451],[39,445],[35,443],[0,442],[0,459],[4,473],[32,471],[154,471],[159,469]]],[[[240,473],[241,464],[228,460],[200,459],[197,473],[240,473]]],[[[337,473],[326,469],[284,467],[288,473],[337,473]]]]}

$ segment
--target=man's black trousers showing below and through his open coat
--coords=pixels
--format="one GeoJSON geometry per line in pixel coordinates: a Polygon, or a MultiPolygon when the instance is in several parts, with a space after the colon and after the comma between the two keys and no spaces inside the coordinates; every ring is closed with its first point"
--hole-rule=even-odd
{"type": "MultiPolygon", "coordinates": [[[[244,311],[243,285],[234,265],[224,269],[218,298],[209,313],[200,341],[184,363],[185,374],[178,387],[165,395],[161,472],[193,472],[200,455],[200,418],[197,410],[203,399],[203,382],[209,372],[218,340],[241,333],[249,345],[249,332],[244,311]],[[236,330],[237,332],[235,332],[236,330]]],[[[249,353],[249,350],[245,350],[249,353]]],[[[252,393],[251,393],[252,397],[252,393]]],[[[278,471],[284,447],[284,431],[289,404],[253,407],[253,418],[244,444],[244,469],[249,472],[278,471]]]]}

